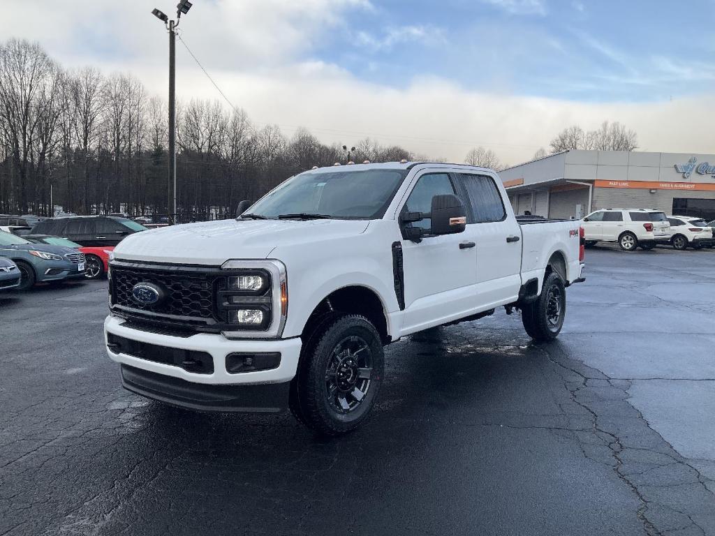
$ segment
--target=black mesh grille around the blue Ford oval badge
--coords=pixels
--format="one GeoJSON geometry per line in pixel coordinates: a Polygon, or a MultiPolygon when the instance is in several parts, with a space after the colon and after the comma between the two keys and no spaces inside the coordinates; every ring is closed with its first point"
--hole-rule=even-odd
{"type": "Polygon", "coordinates": [[[112,267],[112,302],[156,314],[214,319],[213,294],[217,276],[175,270],[112,267]],[[137,283],[153,283],[167,292],[159,304],[140,304],[132,299],[137,283]]]}

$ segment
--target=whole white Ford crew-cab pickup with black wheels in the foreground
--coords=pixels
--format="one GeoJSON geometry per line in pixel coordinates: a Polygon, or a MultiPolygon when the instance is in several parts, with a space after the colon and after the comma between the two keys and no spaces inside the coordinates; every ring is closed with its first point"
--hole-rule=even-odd
{"type": "Polygon", "coordinates": [[[290,407],[357,427],[383,345],[504,306],[553,339],[583,281],[580,222],[518,219],[495,172],[360,164],[288,179],[237,219],[132,234],[110,262],[122,384],[196,410],[290,407]]]}

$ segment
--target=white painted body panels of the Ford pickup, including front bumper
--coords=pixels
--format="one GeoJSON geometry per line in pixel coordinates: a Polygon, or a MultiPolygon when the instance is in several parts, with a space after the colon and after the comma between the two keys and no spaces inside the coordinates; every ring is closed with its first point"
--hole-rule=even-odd
{"type": "MultiPolygon", "coordinates": [[[[519,224],[498,176],[483,168],[453,164],[372,164],[408,169],[380,219],[247,220],[234,219],[163,227],[132,234],[114,249],[114,259],[189,266],[221,267],[237,260],[276,259],[287,270],[287,318],[276,339],[241,339],[240,333],[197,333],[174,337],[129,329],[112,314],[105,334],[212,355],[215,372],[195,374],[107,349],[111,359],[157,374],[204,384],[261,384],[290,380],[300,356],[300,335],[314,309],[332,292],[365,287],[380,299],[388,337],[399,339],[422,329],[488,311],[517,301],[531,279],[541,289],[553,255],[563,258],[566,286],[581,277],[578,221],[519,224]],[[464,232],[429,237],[420,243],[403,238],[398,214],[418,179],[429,172],[480,174],[493,177],[506,210],[501,222],[468,224],[464,232]],[[518,240],[507,241],[509,237],[518,240]],[[404,309],[395,289],[391,247],[401,244],[404,260],[404,309]],[[473,242],[474,247],[460,248],[473,242]],[[227,374],[231,352],[281,352],[278,369],[227,374]]],[[[351,166],[366,169],[366,166],[351,166]]],[[[330,173],[332,168],[315,170],[330,173]]]]}

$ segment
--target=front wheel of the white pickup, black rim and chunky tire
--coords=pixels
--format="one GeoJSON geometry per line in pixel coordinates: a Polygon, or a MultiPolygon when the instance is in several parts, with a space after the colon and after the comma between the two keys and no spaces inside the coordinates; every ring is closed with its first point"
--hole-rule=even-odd
{"type": "Polygon", "coordinates": [[[383,342],[375,326],[357,314],[320,327],[302,352],[293,414],[322,435],[355,430],[373,408],[383,379],[383,342]]]}

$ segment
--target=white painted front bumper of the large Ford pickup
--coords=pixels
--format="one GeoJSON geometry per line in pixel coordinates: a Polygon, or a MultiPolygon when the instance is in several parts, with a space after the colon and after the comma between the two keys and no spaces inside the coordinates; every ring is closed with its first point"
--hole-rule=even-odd
{"type": "Polygon", "coordinates": [[[300,337],[292,339],[227,339],[221,334],[197,333],[190,337],[180,337],[173,334],[162,334],[155,331],[144,331],[130,327],[122,318],[109,315],[104,320],[104,343],[107,344],[107,334],[137,341],[167,349],[183,349],[192,352],[210,354],[213,367],[209,374],[189,372],[174,364],[166,364],[135,355],[115,353],[107,347],[107,355],[115,362],[129,365],[137,369],[147,370],[164,376],[183,379],[193,384],[206,385],[257,385],[290,382],[300,357],[300,337]],[[232,353],[279,353],[280,364],[268,370],[239,372],[231,374],[226,368],[226,357],[232,353]]]}

